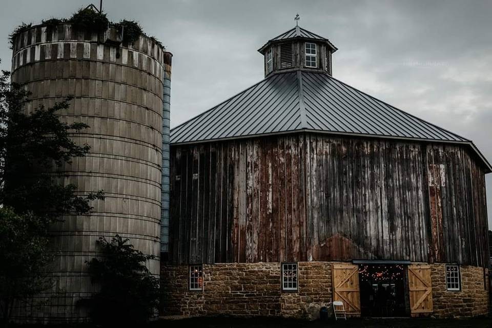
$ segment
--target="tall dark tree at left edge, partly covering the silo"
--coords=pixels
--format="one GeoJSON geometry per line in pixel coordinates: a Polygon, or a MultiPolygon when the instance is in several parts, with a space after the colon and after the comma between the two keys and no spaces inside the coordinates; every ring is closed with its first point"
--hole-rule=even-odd
{"type": "Polygon", "coordinates": [[[66,124],[57,116],[69,108],[70,99],[28,113],[29,95],[22,85],[10,83],[9,72],[2,72],[0,203],[4,208],[0,215],[5,226],[0,237],[0,305],[4,320],[14,302],[46,287],[44,268],[57,251],[49,248],[50,226],[65,214],[89,214],[91,200],[104,200],[103,191],[77,195],[77,186],[59,182],[56,169],[90,150],[70,138],[88,126],[66,124]],[[32,249],[27,246],[30,242],[32,249]]]}

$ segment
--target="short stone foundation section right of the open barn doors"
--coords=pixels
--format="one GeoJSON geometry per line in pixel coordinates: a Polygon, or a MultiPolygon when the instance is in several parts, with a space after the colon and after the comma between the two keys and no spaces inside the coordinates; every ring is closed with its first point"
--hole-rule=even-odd
{"type": "Polygon", "coordinates": [[[461,290],[448,291],[445,264],[432,264],[434,316],[464,318],[488,315],[488,272],[484,280],[483,268],[460,265],[460,274],[461,290]]]}

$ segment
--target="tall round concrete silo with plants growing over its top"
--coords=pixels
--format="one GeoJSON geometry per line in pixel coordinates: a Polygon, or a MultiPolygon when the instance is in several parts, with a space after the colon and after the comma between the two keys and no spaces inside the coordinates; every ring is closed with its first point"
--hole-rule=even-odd
{"type": "Polygon", "coordinates": [[[47,300],[43,305],[20,309],[23,319],[87,319],[76,302],[94,292],[85,261],[98,255],[101,236],[130,238],[135,248],[156,256],[148,267],[159,275],[161,201],[166,198],[161,183],[169,186],[168,173],[162,173],[169,172],[162,170],[162,163],[169,163],[162,133],[168,142],[171,57],[145,35],[133,45],[121,43],[115,27],[97,33],[70,23],[37,25],[14,36],[12,80],[32,92],[28,110],[73,96],[61,119],[90,126],[73,135],[78,144],[91,147],[90,153],[61,167],[60,179],[77,185],[81,194],[106,193],[105,201],[93,203],[92,215],[67,215],[53,227],[61,250],[51,272],[55,283],[39,295],[47,300]]]}

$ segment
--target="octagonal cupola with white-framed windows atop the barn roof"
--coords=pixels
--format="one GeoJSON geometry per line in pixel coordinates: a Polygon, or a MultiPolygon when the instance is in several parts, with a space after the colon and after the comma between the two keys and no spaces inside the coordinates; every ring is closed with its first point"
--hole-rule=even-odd
{"type": "Polygon", "coordinates": [[[337,50],[329,39],[297,25],[258,49],[264,56],[265,77],[296,69],[332,75],[332,53],[337,50]]]}

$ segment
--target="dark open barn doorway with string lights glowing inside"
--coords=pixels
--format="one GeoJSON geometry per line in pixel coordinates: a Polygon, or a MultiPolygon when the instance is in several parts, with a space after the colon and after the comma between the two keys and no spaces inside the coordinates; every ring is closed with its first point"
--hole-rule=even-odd
{"type": "Polygon", "coordinates": [[[361,316],[408,316],[405,274],[402,264],[359,264],[361,316]]]}

